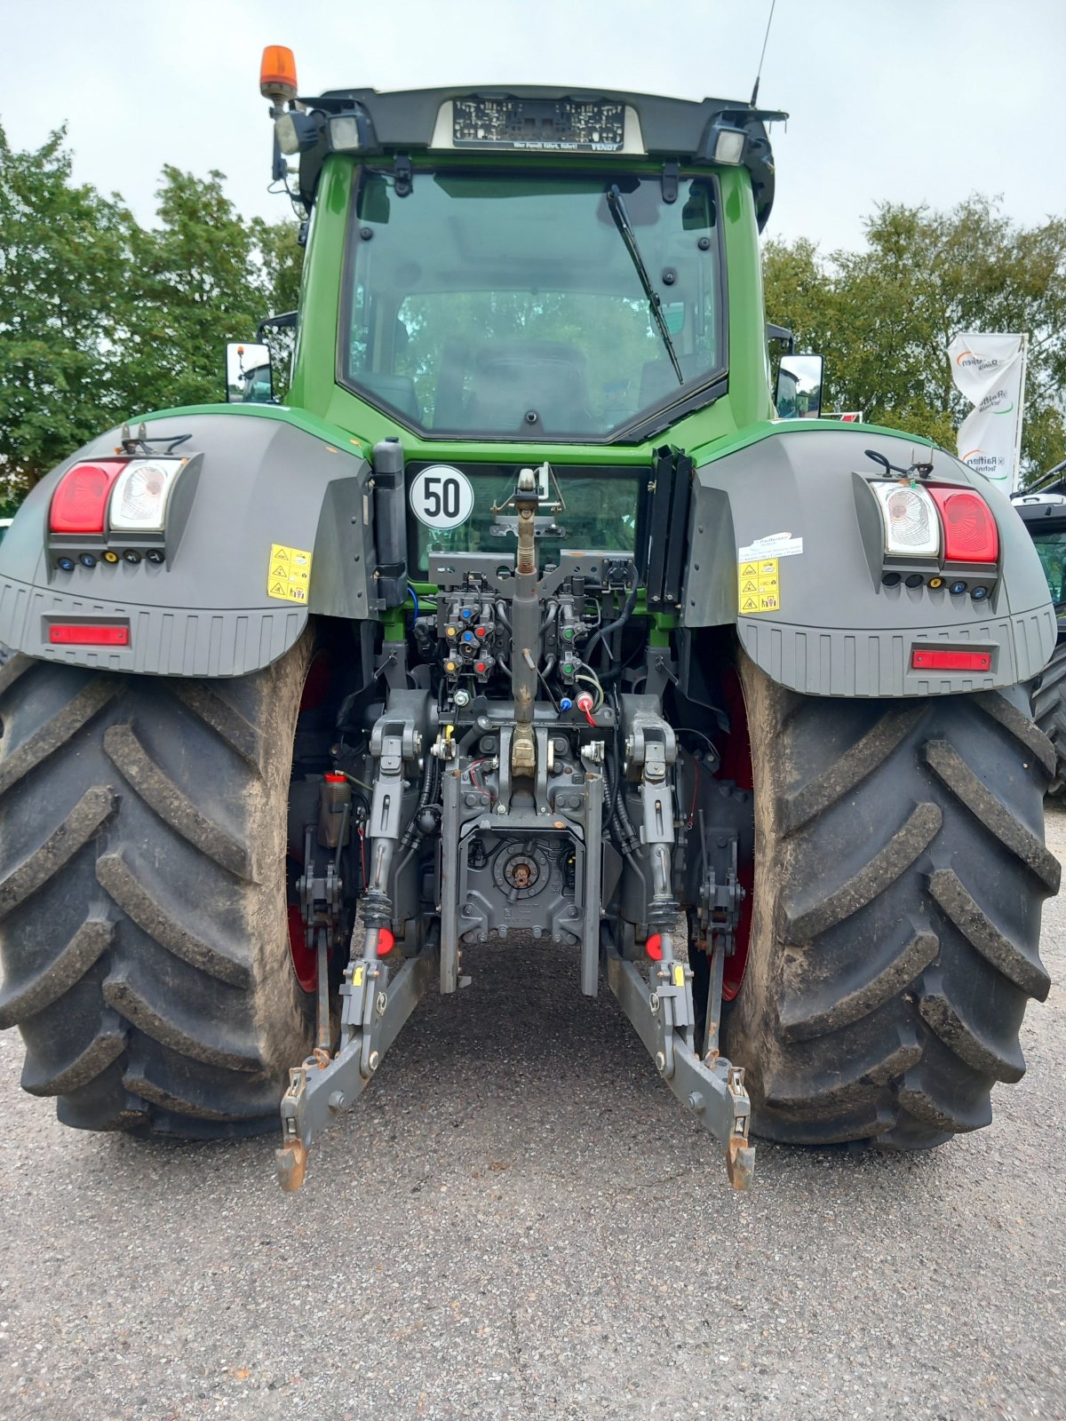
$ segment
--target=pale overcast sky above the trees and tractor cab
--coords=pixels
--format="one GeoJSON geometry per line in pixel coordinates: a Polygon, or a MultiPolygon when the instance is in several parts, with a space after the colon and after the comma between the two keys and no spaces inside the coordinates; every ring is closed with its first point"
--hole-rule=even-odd
{"type": "MultiPolygon", "coordinates": [[[[16,148],[65,122],[75,176],[154,216],[162,163],[266,192],[264,44],[303,94],[368,85],[573,84],[743,98],[770,0],[0,0],[0,124],[16,148]]],[[[760,102],[775,128],[769,234],[857,246],[877,202],[1002,193],[1066,213],[1066,0],[777,0],[760,102]]]]}

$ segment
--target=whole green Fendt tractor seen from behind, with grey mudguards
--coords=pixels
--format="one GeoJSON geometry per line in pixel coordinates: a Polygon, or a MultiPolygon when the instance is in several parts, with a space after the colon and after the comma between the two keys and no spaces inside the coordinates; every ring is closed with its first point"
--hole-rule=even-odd
{"type": "Polygon", "coordinates": [[[419,996],[522,935],[615,993],[738,1188],[750,1135],[988,1124],[1049,989],[1019,682],[1055,612],[952,455],[779,418],[783,115],[297,99],[266,61],[306,212],[286,402],[246,347],[232,402],[102,433],[0,551],[26,1090],[135,1134],[280,1113],[291,1189],[419,996]]]}

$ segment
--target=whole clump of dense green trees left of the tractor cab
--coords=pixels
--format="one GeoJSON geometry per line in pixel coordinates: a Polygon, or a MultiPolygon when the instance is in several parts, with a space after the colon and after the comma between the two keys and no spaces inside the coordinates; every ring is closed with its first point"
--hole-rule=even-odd
{"type": "Polygon", "coordinates": [[[223,398],[225,344],[291,310],[291,220],[246,223],[220,173],[163,169],[158,226],[71,179],[57,129],[18,152],[0,128],[0,480],[21,497],[102,429],[223,398]]]}

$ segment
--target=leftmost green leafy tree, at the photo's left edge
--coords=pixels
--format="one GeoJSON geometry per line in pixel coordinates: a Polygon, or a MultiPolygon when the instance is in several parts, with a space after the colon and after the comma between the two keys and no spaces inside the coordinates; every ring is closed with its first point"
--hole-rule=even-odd
{"type": "Polygon", "coordinates": [[[111,422],[135,230],[118,198],[71,180],[63,129],[16,152],[0,128],[0,476],[16,496],[111,422]]]}

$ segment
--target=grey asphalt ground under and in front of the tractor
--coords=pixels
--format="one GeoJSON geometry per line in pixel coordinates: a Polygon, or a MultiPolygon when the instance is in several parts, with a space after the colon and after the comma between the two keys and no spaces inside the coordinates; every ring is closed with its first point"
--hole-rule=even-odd
{"type": "Polygon", "coordinates": [[[989,1130],[735,1195],[563,953],[465,965],[294,1196],[273,1138],[61,1128],[0,1036],[0,1417],[1066,1417],[1062,985],[989,1130]]]}

